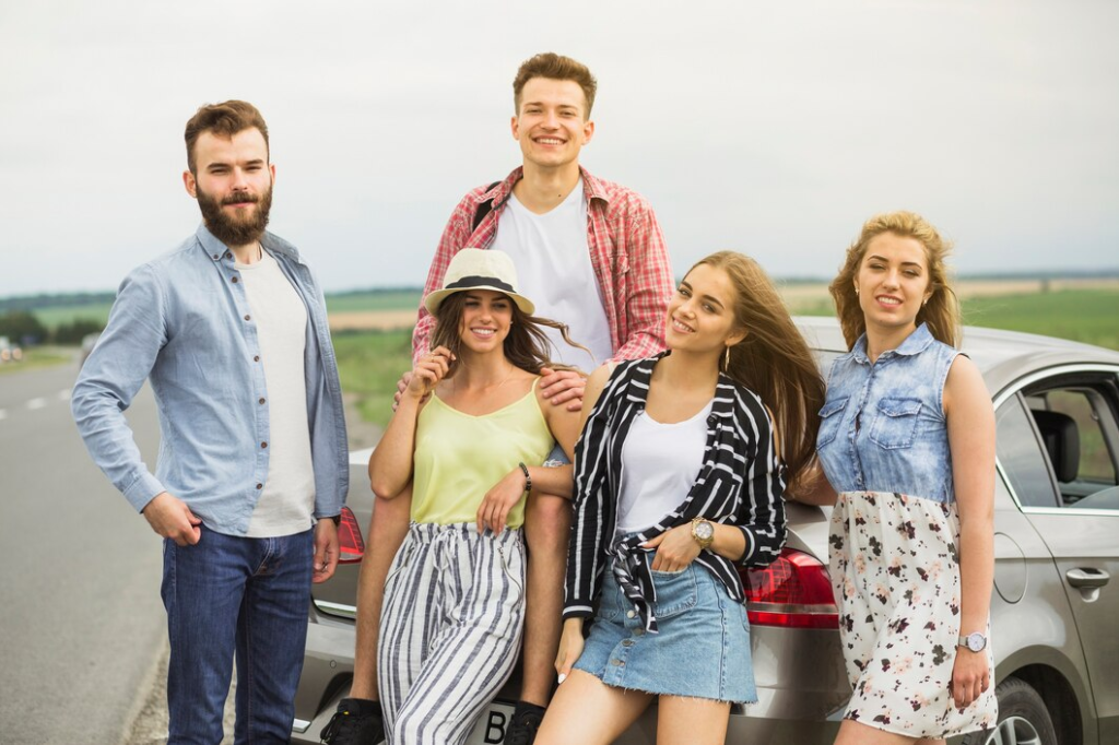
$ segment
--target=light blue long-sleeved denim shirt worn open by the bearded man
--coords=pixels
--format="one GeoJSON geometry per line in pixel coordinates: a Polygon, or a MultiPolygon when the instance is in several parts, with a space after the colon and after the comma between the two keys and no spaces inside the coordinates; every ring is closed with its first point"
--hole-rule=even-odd
{"type": "MultiPolygon", "coordinates": [[[[314,517],[338,515],[349,487],[346,422],[327,309],[294,246],[261,244],[307,305],[307,413],[314,517]]],[[[137,510],[168,491],[207,528],[244,535],[269,472],[269,393],[256,326],[233,255],[205,225],[121,283],[70,407],[93,460],[137,510]],[[154,475],[124,411],[145,379],[159,407],[154,475]]]]}

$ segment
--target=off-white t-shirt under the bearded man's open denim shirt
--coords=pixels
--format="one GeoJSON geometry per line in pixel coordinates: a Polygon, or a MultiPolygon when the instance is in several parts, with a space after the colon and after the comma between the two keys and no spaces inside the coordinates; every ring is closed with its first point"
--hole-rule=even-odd
{"type": "Polygon", "coordinates": [[[248,538],[302,532],[313,525],[314,466],[307,418],[307,308],[276,260],[264,252],[255,264],[237,264],[256,321],[267,390],[269,475],[248,521],[248,538]]]}

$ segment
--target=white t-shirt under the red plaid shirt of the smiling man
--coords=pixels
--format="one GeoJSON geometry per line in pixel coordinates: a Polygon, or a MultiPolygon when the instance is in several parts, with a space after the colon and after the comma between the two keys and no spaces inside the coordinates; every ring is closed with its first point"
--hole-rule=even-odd
{"type": "Polygon", "coordinates": [[[555,345],[548,356],[585,372],[613,357],[602,287],[591,266],[586,242],[583,179],[558,206],[537,215],[509,195],[498,218],[492,248],[513,257],[517,291],[536,304],[536,315],[566,323],[568,336],[591,350],[568,346],[558,331],[544,328],[555,345]]]}

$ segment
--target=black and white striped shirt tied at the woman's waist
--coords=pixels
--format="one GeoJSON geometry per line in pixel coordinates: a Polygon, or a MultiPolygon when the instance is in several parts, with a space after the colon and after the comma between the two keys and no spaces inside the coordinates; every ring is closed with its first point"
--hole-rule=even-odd
{"type": "MultiPolygon", "coordinates": [[[[786,469],[775,452],[772,423],[756,394],[725,375],[718,377],[707,417],[703,468],[684,502],[648,530],[614,541],[622,445],[634,417],[645,409],[652,368],[668,353],[621,362],[575,444],[575,521],[567,555],[564,619],[592,614],[602,572],[610,560],[619,586],[641,613],[646,629],[656,632],[651,554],[638,545],[693,518],[737,526],[746,539],[740,559],[745,566],[767,566],[784,545],[786,469]]],[[[723,583],[731,597],[744,600],[734,562],[711,550],[700,551],[695,560],[723,583]]]]}

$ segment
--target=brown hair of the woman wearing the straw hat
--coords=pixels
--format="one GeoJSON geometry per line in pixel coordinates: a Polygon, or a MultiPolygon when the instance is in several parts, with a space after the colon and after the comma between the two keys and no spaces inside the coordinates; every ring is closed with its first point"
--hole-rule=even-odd
{"type": "MultiPolygon", "coordinates": [[[[502,295],[508,298],[508,295],[502,295]]],[[[457,292],[443,299],[435,310],[435,329],[431,334],[431,348],[446,347],[455,358],[462,348],[462,338],[459,336],[459,321],[462,318],[462,308],[467,302],[467,293],[457,292]]],[[[505,357],[516,367],[539,375],[542,367],[558,370],[574,369],[570,365],[558,365],[551,360],[549,350],[553,348],[552,340],[540,327],[548,327],[560,331],[560,336],[572,347],[586,349],[582,345],[575,343],[567,336],[567,324],[553,321],[548,318],[529,315],[517,307],[517,303],[509,300],[513,308],[513,324],[509,327],[509,334],[505,338],[502,349],[505,357]]]]}

